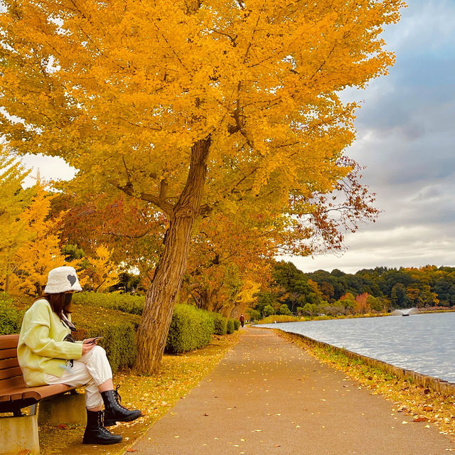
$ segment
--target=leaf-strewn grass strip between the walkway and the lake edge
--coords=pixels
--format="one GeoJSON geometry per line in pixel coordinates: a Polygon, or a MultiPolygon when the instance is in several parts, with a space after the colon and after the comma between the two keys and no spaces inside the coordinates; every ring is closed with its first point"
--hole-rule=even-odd
{"type": "Polygon", "coordinates": [[[352,359],[329,347],[312,346],[295,333],[274,330],[278,336],[295,343],[314,358],[343,371],[349,378],[368,387],[395,403],[394,412],[414,417],[416,422],[429,422],[439,432],[455,436],[454,395],[441,395],[432,389],[412,383],[412,380],[398,378],[379,368],[367,365],[360,359],[352,359]]]}

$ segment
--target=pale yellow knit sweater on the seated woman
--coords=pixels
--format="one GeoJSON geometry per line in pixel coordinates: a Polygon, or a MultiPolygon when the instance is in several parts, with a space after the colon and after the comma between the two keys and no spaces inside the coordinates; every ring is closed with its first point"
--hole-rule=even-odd
{"type": "Polygon", "coordinates": [[[46,373],[60,378],[66,360],[82,356],[82,343],[63,338],[70,329],[52,311],[45,299],[39,299],[23,316],[17,346],[17,358],[28,387],[45,385],[46,373]]]}

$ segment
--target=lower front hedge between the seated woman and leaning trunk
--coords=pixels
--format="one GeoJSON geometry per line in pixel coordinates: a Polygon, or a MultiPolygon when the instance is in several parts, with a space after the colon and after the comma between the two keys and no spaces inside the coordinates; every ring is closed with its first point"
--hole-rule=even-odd
{"type": "Polygon", "coordinates": [[[100,346],[106,350],[112,371],[132,367],[137,355],[136,332],[140,316],[75,304],[72,310],[71,316],[77,328],[75,338],[104,336],[100,346]]]}

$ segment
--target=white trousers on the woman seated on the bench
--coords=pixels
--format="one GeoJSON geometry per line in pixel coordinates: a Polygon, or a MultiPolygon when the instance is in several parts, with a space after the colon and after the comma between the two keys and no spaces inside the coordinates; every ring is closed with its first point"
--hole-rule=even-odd
{"type": "Polygon", "coordinates": [[[102,396],[98,385],[112,379],[111,365],[106,357],[106,351],[101,346],[93,346],[86,354],[78,360],[73,361],[71,367],[67,368],[63,375],[45,375],[47,384],[67,384],[79,387],[85,385],[85,407],[92,409],[102,405],[102,396]]]}

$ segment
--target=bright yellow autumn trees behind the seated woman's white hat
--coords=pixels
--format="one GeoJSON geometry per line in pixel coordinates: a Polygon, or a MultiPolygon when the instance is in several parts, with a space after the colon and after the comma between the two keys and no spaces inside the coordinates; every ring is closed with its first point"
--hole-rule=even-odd
{"type": "Polygon", "coordinates": [[[86,289],[103,291],[117,282],[118,264],[112,252],[98,244],[91,255],[68,259],[62,252],[61,227],[65,212],[52,216],[55,193],[36,178],[35,185],[23,189],[26,172],[13,159],[0,159],[0,289],[9,294],[40,295],[54,267],[77,269],[86,289]]]}

